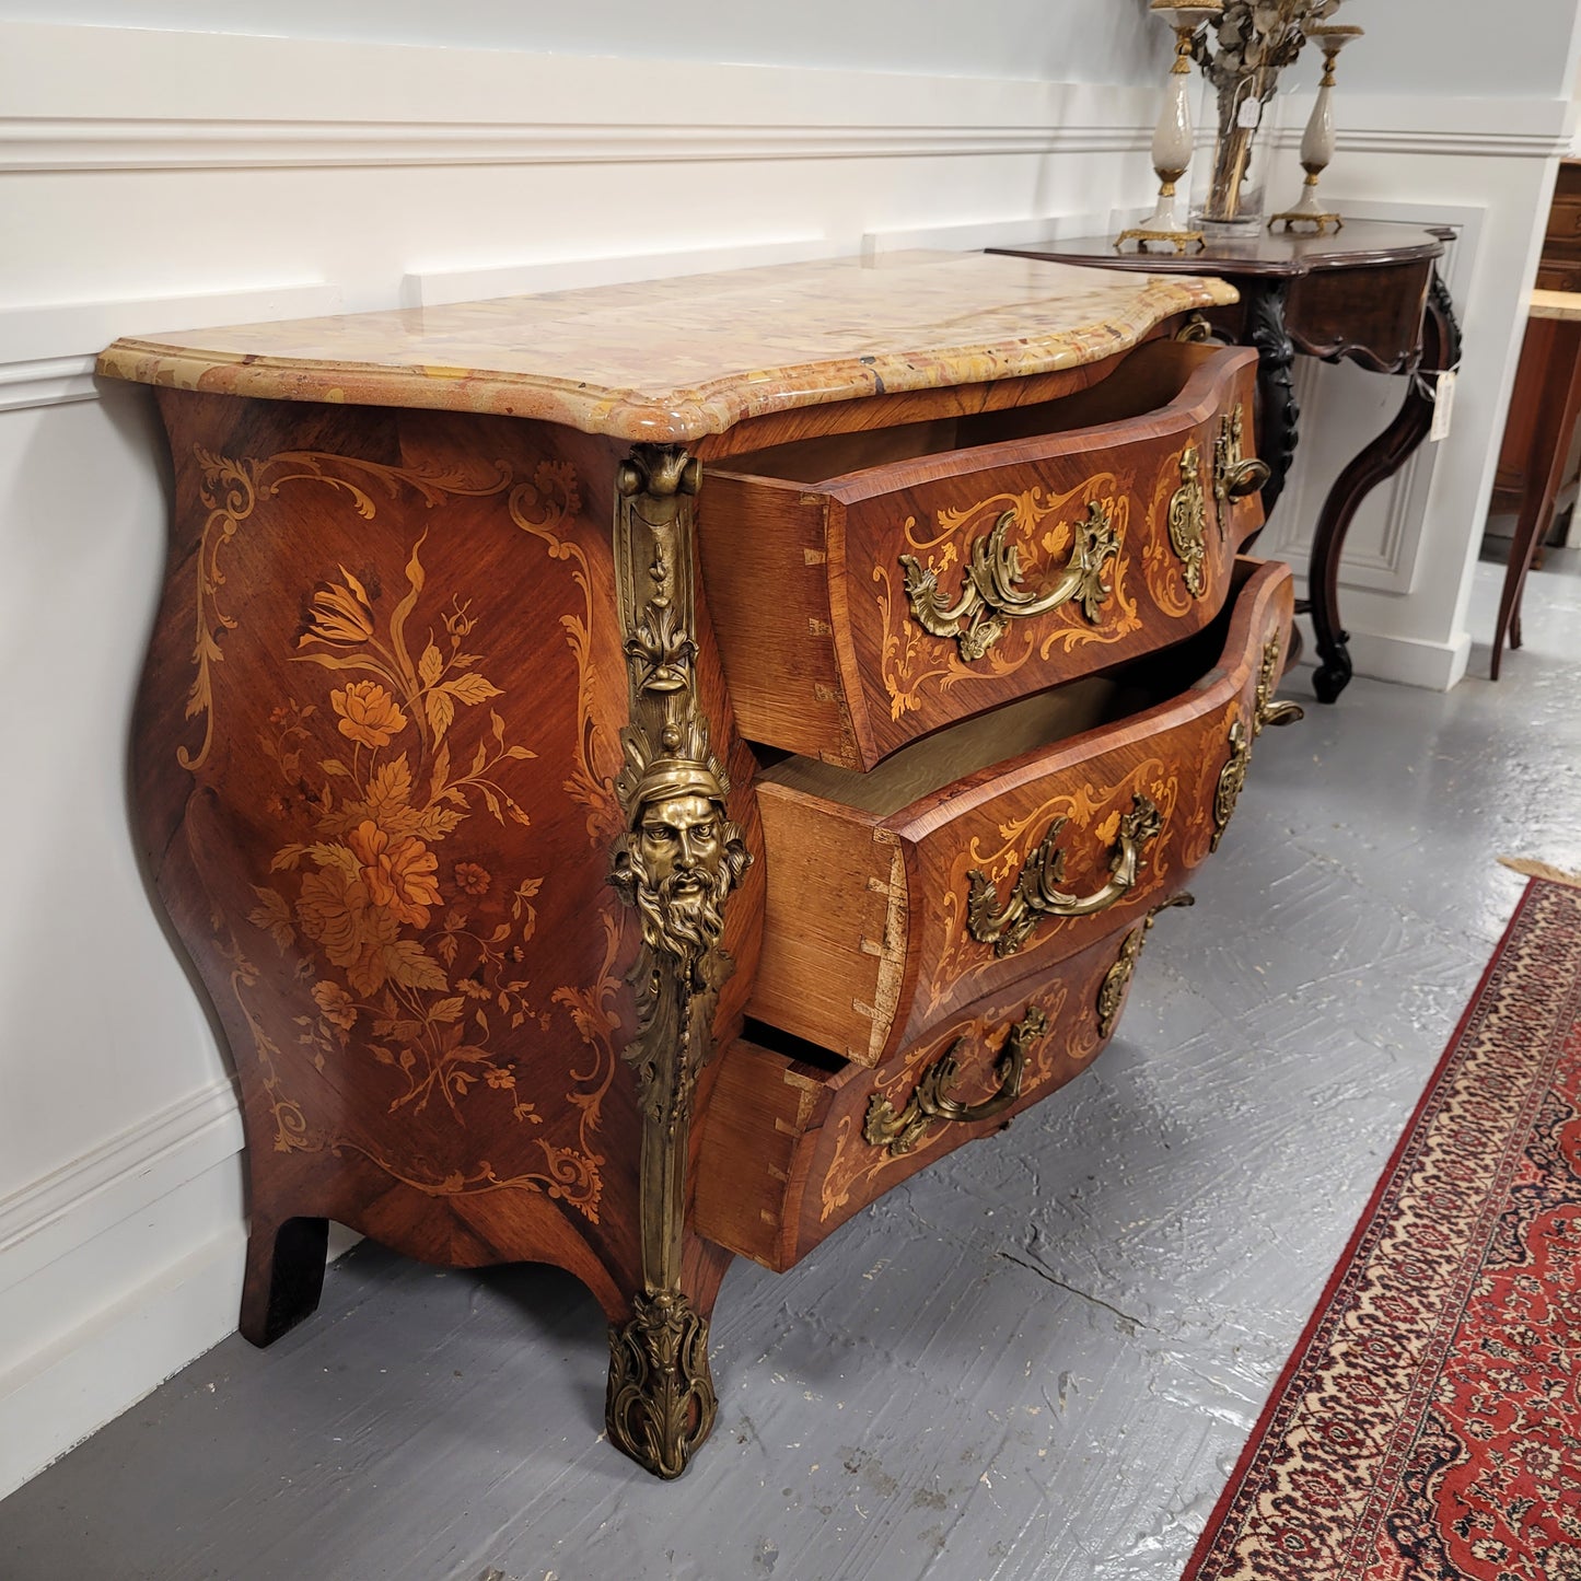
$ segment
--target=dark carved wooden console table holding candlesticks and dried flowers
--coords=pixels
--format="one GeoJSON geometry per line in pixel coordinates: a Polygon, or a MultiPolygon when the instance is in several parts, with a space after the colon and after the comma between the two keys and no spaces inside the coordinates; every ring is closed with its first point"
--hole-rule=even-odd
{"type": "Polygon", "coordinates": [[[1323,501],[1307,568],[1309,612],[1319,666],[1312,686],[1334,702],[1350,683],[1349,634],[1339,623],[1339,558],[1361,501],[1399,471],[1428,436],[1437,375],[1461,357],[1455,307],[1436,262],[1443,239],[1417,226],[1352,221],[1334,236],[1211,237],[1189,256],[1116,253],[1111,237],[1088,236],[1002,248],[1145,274],[1213,275],[1233,285],[1236,307],[1214,308],[1214,329],[1258,353],[1257,454],[1270,466],[1263,509],[1273,511],[1300,438],[1292,387],[1295,354],[1355,362],[1372,373],[1410,375],[1394,421],[1341,471],[1323,501]]]}

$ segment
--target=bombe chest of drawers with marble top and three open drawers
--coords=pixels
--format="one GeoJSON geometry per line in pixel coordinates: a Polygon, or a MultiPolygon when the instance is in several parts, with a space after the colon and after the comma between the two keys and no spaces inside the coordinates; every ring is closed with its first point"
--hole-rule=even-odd
{"type": "Polygon", "coordinates": [[[734,1255],[1092,1061],[1293,713],[1228,296],[922,255],[104,353],[174,457],[134,800],[250,1339],[330,1219],[557,1263],[674,1477],[734,1255]]]}

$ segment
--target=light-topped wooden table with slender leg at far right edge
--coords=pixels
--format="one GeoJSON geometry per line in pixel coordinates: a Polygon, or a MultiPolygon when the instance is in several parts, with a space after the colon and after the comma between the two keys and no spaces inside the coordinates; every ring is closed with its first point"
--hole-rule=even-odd
{"type": "MultiPolygon", "coordinates": [[[[1491,680],[1499,678],[1504,645],[1521,645],[1521,593],[1532,569],[1537,545],[1548,536],[1554,501],[1564,482],[1565,452],[1581,417],[1581,292],[1534,291],[1521,346],[1516,391],[1535,395],[1529,402],[1529,436],[1521,457],[1521,511],[1510,544],[1510,564],[1499,594],[1499,620],[1492,632],[1491,680]]],[[[1511,402],[1511,413],[1515,409],[1511,402]]]]}

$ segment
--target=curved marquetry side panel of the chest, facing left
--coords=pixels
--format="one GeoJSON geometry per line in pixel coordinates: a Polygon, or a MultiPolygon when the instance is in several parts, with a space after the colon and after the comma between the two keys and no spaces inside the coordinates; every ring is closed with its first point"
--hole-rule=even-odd
{"type": "MultiPolygon", "coordinates": [[[[236,1061],[255,1233],[311,1214],[441,1263],[550,1260],[621,1314],[639,1130],[618,1061],[637,928],[607,882],[615,447],[161,400],[175,511],[138,816],[236,1061]]],[[[730,814],[760,851],[702,636],[730,814]]],[[[726,1034],[759,919],[753,876],[726,1034]]]]}

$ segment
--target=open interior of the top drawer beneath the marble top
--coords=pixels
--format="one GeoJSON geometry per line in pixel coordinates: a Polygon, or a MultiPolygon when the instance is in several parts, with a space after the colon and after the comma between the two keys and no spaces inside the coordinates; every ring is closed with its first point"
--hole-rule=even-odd
{"type": "Polygon", "coordinates": [[[795,440],[732,455],[724,470],[786,482],[833,484],[854,473],[923,455],[1126,422],[1168,406],[1186,389],[1190,376],[1222,351],[1224,348],[1213,345],[1149,340],[1124,359],[1121,373],[1058,400],[909,422],[877,432],[795,440]]]}

